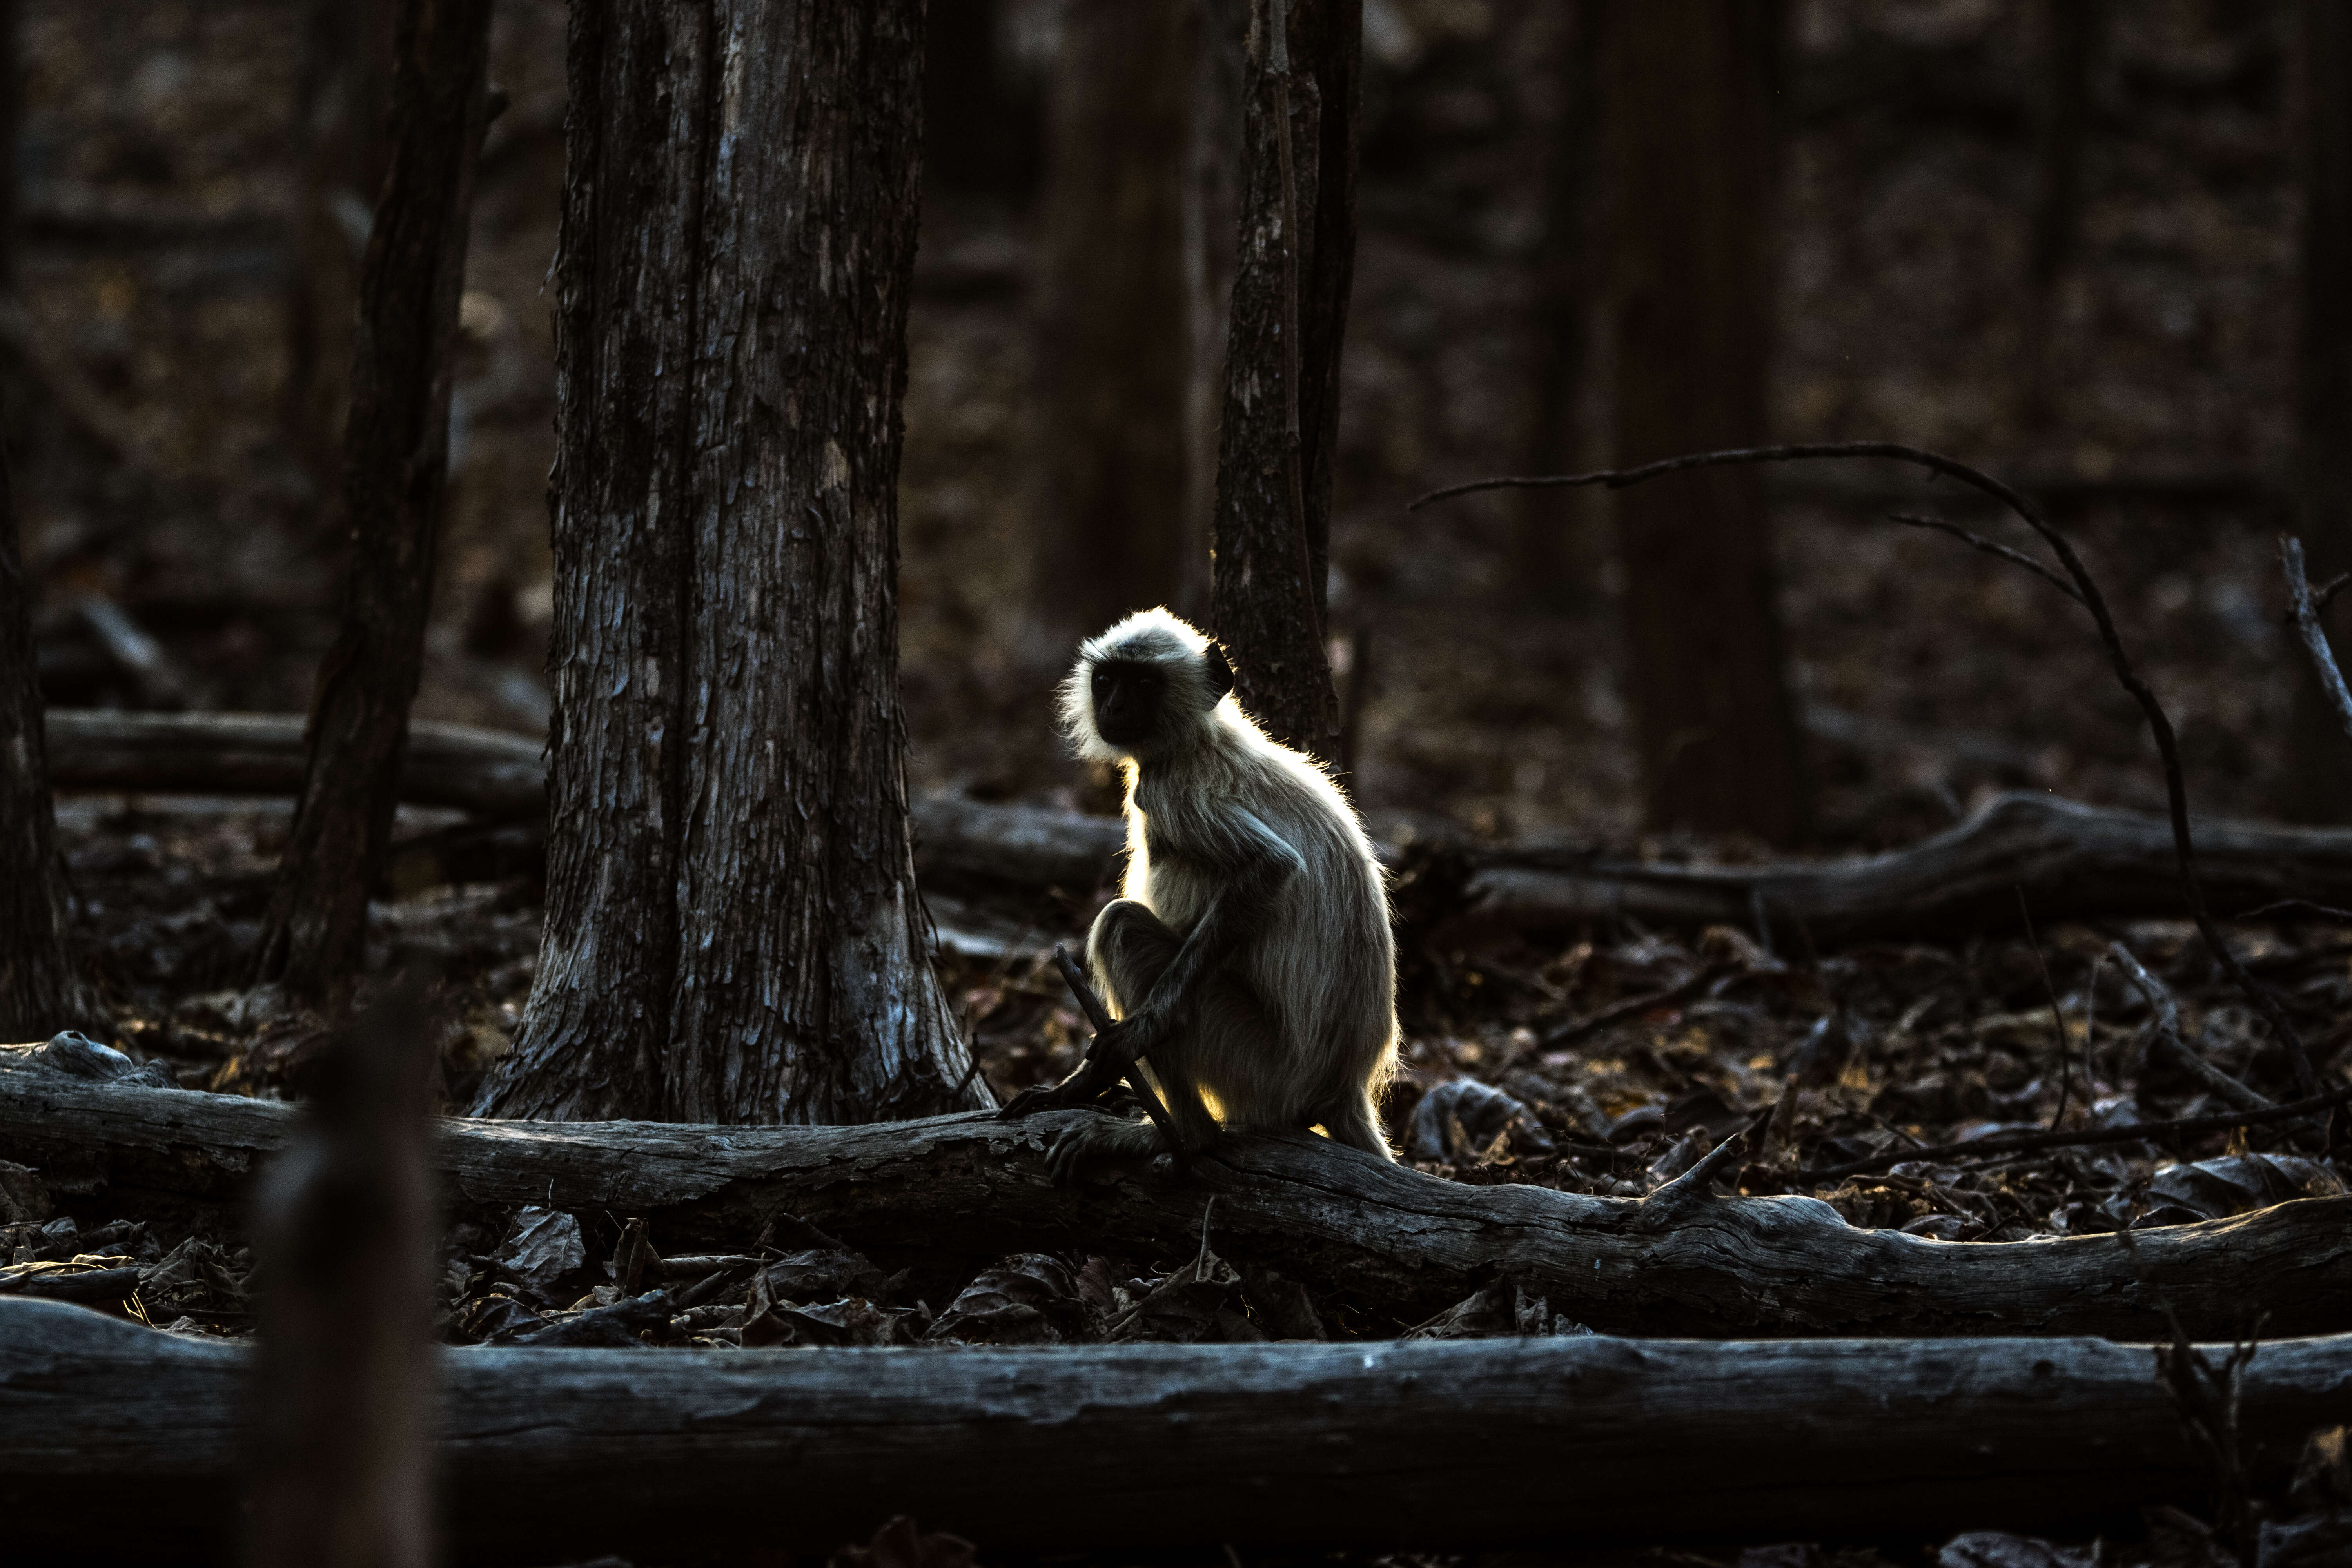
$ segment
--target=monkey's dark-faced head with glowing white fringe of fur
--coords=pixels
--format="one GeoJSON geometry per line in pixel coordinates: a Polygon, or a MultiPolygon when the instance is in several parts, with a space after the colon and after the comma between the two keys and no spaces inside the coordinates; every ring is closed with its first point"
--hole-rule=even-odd
{"type": "Polygon", "coordinates": [[[1080,757],[1141,762],[1200,736],[1228,691],[1221,646],[1164,609],[1143,609],[1080,644],[1061,724],[1080,757]]]}

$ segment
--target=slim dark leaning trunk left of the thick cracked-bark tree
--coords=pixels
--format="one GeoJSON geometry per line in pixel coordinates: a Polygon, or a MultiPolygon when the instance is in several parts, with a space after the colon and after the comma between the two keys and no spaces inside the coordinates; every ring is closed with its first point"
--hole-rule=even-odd
{"type": "Polygon", "coordinates": [[[310,693],[310,755],[259,961],[263,980],[310,999],[343,994],[360,971],[367,893],[400,806],[449,473],[449,353],[487,71],[489,0],[400,0],[393,165],[367,240],[343,435],[343,623],[310,693]]]}

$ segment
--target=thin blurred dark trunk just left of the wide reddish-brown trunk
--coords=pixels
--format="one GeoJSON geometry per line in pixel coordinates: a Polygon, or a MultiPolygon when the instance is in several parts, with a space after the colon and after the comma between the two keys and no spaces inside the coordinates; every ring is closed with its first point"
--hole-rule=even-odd
{"type": "MultiPolygon", "coordinates": [[[[1559,7],[1557,87],[1543,200],[1543,247],[1536,252],[1534,327],[1541,334],[1534,409],[1526,433],[1526,473],[1595,468],[1585,414],[1592,376],[1592,313],[1599,247],[1599,19],[1597,0],[1559,7]]],[[[1599,541],[1590,491],[1519,491],[1519,592],[1541,609],[1566,611],[1595,592],[1599,541]]]]}

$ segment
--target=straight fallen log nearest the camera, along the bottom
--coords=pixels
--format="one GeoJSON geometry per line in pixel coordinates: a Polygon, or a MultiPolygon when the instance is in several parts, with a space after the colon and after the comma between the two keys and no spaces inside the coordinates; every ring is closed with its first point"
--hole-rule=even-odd
{"type": "MultiPolygon", "coordinates": [[[[456,1349],[440,1366],[461,1561],[823,1556],[891,1514],[1000,1554],[2089,1533],[2209,1481],[2152,1349],[2079,1338],[456,1349]]],[[[242,1347],[0,1302],[12,1554],[221,1554],[245,1375],[242,1347]]],[[[2291,1460],[2347,1399],[2352,1340],[2263,1345],[2239,1443],[2291,1460]]]]}

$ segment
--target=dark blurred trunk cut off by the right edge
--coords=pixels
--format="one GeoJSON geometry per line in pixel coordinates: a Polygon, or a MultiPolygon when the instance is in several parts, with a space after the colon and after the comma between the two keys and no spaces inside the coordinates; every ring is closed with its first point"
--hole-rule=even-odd
{"type": "MultiPolygon", "coordinates": [[[[2312,581],[2352,571],[2352,14],[2303,0],[2303,336],[2298,468],[2300,534],[2312,581]]],[[[2352,630],[2340,595],[2321,621],[2338,646],[2352,630]]],[[[2352,748],[2319,679],[2296,661],[2293,771],[2281,809],[2307,823],[2352,816],[2352,748]]]]}

